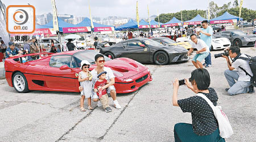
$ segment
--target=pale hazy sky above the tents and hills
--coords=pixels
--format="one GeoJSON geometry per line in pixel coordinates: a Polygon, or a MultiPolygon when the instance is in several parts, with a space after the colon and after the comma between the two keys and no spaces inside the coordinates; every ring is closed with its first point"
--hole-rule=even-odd
{"type": "MultiPolygon", "coordinates": [[[[28,5],[35,7],[36,15],[52,13],[51,0],[1,0],[6,7],[9,5],[28,5]]],[[[92,17],[106,18],[108,16],[122,16],[136,18],[137,0],[55,0],[59,15],[70,14],[74,16],[89,17],[88,4],[92,17]]],[[[138,0],[139,17],[147,18],[147,5],[151,15],[178,12],[180,10],[207,10],[208,1],[211,0],[138,0]]],[[[218,6],[234,0],[213,0],[218,6]]],[[[240,3],[240,0],[238,0],[240,3]]],[[[243,0],[243,7],[256,10],[255,0],[243,0]]]]}

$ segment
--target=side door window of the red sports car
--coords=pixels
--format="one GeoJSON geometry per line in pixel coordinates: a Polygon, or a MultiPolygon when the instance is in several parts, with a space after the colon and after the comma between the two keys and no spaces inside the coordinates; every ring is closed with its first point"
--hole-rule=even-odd
{"type": "Polygon", "coordinates": [[[69,68],[76,68],[75,60],[71,55],[52,56],[49,66],[60,68],[60,66],[67,65],[69,68]]]}

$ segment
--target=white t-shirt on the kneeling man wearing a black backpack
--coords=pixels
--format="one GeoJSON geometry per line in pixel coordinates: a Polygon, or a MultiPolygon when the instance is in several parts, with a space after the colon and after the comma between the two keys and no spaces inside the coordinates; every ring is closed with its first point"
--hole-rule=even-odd
{"type": "MultiPolygon", "coordinates": [[[[242,54],[240,57],[246,57],[246,55],[242,54]]],[[[249,62],[246,60],[242,60],[242,59],[237,59],[236,61],[234,61],[232,63],[232,67],[238,70],[238,81],[250,81],[251,77],[250,76],[246,76],[245,72],[239,68],[239,66],[241,66],[241,68],[245,69],[247,73],[249,73],[251,76],[253,76],[253,72],[251,72],[251,68],[249,65],[249,62]]]]}

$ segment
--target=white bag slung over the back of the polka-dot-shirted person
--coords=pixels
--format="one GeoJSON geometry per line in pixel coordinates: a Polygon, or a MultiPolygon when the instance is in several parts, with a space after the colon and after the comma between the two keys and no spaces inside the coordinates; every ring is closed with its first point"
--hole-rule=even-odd
{"type": "Polygon", "coordinates": [[[226,114],[221,110],[221,106],[214,106],[213,103],[204,94],[198,93],[196,95],[204,98],[205,101],[208,102],[210,107],[212,107],[214,116],[218,121],[218,129],[220,130],[220,136],[223,138],[228,138],[232,136],[233,130],[229,123],[228,116],[226,116],[226,114]]]}

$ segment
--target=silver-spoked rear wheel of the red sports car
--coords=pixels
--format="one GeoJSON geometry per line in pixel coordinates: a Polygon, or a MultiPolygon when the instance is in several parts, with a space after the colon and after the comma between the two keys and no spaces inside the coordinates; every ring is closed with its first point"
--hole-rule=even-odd
{"type": "Polygon", "coordinates": [[[13,86],[18,93],[27,93],[29,91],[26,77],[20,72],[16,72],[13,75],[13,86]]]}

